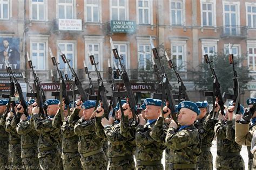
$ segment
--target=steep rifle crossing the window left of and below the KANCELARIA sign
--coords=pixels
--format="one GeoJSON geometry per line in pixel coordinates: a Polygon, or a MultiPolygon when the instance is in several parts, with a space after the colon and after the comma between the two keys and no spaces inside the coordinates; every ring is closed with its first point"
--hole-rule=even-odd
{"type": "Polygon", "coordinates": [[[98,102],[99,102],[99,97],[101,96],[102,98],[102,102],[103,102],[103,109],[104,109],[104,116],[106,118],[109,118],[109,112],[108,111],[108,107],[109,107],[109,103],[107,102],[107,97],[106,97],[106,89],[103,85],[103,79],[102,77],[100,76],[100,73],[97,69],[97,65],[98,63],[95,62],[95,58],[93,56],[93,54],[91,54],[91,52],[89,52],[89,57],[90,57],[90,61],[91,61],[91,65],[92,66],[95,66],[95,71],[97,73],[97,76],[98,76],[98,83],[99,83],[99,88],[98,88],[98,94],[97,94],[97,101],[96,101],[96,106],[95,106],[95,110],[97,109],[98,107],[98,102]]]}

